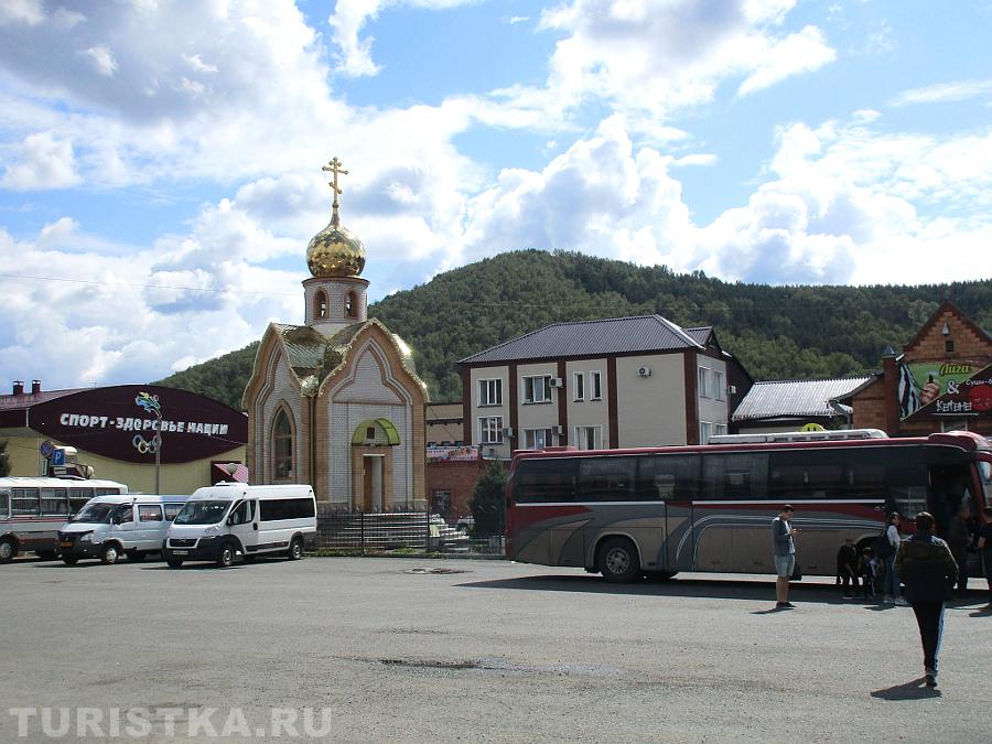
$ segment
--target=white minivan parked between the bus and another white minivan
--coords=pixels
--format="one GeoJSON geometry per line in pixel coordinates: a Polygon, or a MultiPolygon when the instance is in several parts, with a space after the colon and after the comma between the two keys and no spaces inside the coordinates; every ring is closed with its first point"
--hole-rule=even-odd
{"type": "Polygon", "coordinates": [[[141,561],[162,549],[169,526],[188,495],[111,494],[96,496],[61,528],[58,552],[66,564],[80,558],[116,563],[125,554],[141,561]]]}

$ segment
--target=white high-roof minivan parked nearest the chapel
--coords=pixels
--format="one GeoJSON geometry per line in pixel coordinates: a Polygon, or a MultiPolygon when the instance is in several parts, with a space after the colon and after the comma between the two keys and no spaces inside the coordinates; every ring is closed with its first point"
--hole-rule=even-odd
{"type": "Polygon", "coordinates": [[[316,536],[316,499],[310,486],[248,486],[218,483],[198,488],[180,511],[162,544],[172,568],[183,561],[231,565],[237,557],[284,553],[303,558],[316,536]]]}

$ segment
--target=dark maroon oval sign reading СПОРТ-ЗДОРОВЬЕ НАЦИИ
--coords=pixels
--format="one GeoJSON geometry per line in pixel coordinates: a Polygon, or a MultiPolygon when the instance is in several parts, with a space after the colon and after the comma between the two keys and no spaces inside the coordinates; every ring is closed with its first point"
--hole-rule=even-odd
{"type": "Polygon", "coordinates": [[[112,460],[186,463],[216,457],[248,441],[248,419],[188,390],[118,385],[55,398],[29,412],[28,425],[46,439],[112,460]],[[142,402],[137,402],[142,401],[142,402]]]}

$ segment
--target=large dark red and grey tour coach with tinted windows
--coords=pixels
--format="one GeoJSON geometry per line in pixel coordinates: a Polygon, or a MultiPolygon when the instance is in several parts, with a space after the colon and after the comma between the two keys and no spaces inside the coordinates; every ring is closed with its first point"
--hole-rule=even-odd
{"type": "Polygon", "coordinates": [[[614,582],[679,571],[767,573],[770,521],[791,504],[802,571],[833,575],[844,539],[869,543],[888,511],[926,509],[941,531],[962,502],[977,520],[992,504],[992,445],[971,432],[786,439],[794,441],[517,452],[507,557],[614,582]]]}

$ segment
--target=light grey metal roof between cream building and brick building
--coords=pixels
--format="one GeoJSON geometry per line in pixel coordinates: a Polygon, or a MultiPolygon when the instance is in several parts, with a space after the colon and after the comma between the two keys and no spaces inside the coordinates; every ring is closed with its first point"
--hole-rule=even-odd
{"type": "MultiPolygon", "coordinates": [[[[842,377],[826,380],[773,380],[755,382],[734,411],[734,421],[781,417],[833,417],[828,401],[847,398],[872,377],[842,377]]],[[[841,409],[850,413],[849,406],[841,409]]]]}

